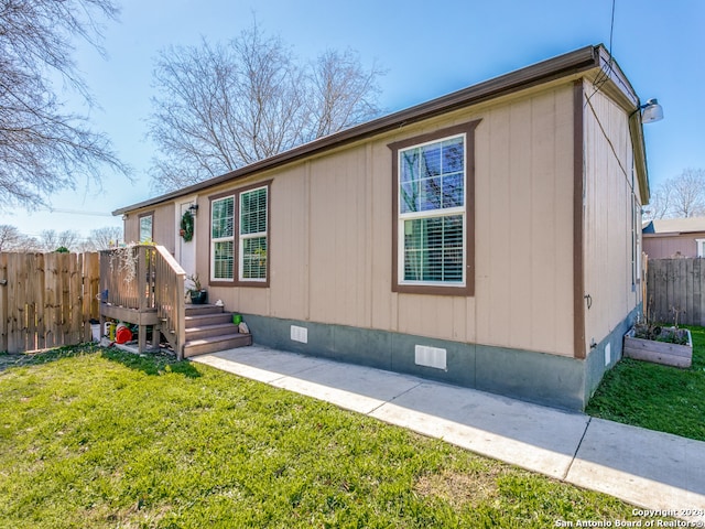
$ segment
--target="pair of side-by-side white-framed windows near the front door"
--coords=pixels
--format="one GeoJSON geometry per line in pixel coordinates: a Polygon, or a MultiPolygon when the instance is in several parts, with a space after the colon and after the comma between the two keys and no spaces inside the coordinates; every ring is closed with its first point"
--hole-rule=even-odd
{"type": "Polygon", "coordinates": [[[269,183],[212,198],[210,281],[268,285],[269,183]]]}

